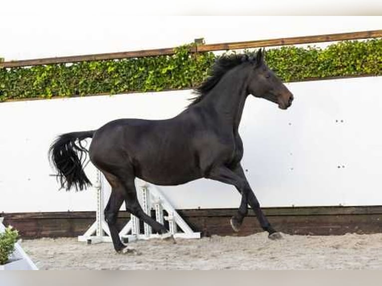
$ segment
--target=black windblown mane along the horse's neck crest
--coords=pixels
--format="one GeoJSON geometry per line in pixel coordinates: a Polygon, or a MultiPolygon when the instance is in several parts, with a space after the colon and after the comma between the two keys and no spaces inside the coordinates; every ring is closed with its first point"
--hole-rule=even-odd
{"type": "Polygon", "coordinates": [[[231,54],[219,57],[213,64],[208,78],[197,88],[193,90],[195,97],[191,98],[191,105],[200,102],[204,96],[220,81],[223,75],[232,68],[245,61],[253,61],[253,57],[247,54],[231,54]]]}

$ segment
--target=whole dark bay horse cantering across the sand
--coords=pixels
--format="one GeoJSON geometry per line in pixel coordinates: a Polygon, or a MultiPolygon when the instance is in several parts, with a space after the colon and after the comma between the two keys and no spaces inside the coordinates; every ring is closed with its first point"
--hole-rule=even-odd
{"type": "Polygon", "coordinates": [[[81,141],[93,138],[90,160],[112,187],[105,219],[117,252],[126,247],[116,227],[123,202],[130,213],[155,232],[168,232],[142,210],[134,184],[136,177],[157,185],[179,185],[198,178],[233,185],[241,194],[241,203],[231,218],[232,228],[239,230],[249,204],[269,238],[281,238],[264,216],[245,178],[238,128],[249,94],[287,109],[293,101],[292,93],[268,68],[261,49],[253,57],[220,57],[210,77],[195,92],[198,96],[191,105],[172,119],[118,119],[98,130],[63,134],[49,149],[61,187],[82,190],[91,183],[83,171],[87,150],[81,141]]]}

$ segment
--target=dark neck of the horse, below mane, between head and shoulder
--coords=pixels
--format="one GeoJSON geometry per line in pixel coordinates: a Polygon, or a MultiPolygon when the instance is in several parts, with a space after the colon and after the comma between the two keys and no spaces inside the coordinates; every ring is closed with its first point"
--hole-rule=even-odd
{"type": "Polygon", "coordinates": [[[246,78],[242,75],[231,74],[224,77],[200,102],[208,108],[216,110],[223,122],[232,125],[237,132],[247,98],[246,78]]]}

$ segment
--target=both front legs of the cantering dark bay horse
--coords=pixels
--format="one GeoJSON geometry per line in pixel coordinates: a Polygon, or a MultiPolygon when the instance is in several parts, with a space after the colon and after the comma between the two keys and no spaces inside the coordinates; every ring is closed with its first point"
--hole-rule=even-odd
{"type": "MultiPolygon", "coordinates": [[[[249,186],[249,183],[247,179],[245,178],[245,175],[241,166],[238,166],[238,168],[235,170],[231,170],[227,168],[226,166],[215,167],[210,171],[208,178],[222,182],[222,183],[234,185],[237,188],[237,190],[241,193],[242,199],[241,199],[241,204],[238,210],[238,214],[236,217],[234,216],[234,218],[237,219],[237,222],[239,222],[239,227],[241,225],[243,218],[246,215],[247,202],[248,202],[251,208],[253,209],[253,211],[255,212],[256,218],[259,221],[262,229],[269,233],[269,238],[270,239],[281,238],[281,235],[278,232],[276,232],[276,230],[271,226],[268,219],[265,217],[264,213],[262,212],[259,201],[257,200],[251,187],[249,186]]],[[[235,219],[233,223],[235,223],[235,219]]]]}

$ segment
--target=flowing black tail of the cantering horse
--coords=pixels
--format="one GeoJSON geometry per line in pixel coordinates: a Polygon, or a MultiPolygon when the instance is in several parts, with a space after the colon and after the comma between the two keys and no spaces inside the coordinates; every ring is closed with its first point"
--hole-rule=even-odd
{"type": "Polygon", "coordinates": [[[93,134],[94,131],[62,134],[50,146],[49,159],[57,170],[61,188],[69,190],[74,185],[78,191],[91,186],[82,166],[88,150],[81,141],[92,138],[93,134]]]}

